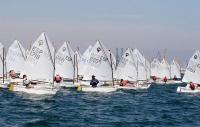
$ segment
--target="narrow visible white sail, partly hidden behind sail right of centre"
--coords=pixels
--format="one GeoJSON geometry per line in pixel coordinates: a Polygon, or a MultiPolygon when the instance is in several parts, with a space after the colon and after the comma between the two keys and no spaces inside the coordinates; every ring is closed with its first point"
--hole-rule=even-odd
{"type": "Polygon", "coordinates": [[[145,58],[141,55],[141,53],[134,49],[133,51],[133,57],[135,59],[135,64],[137,67],[137,73],[138,73],[138,80],[147,80],[147,72],[145,67],[145,58]]]}

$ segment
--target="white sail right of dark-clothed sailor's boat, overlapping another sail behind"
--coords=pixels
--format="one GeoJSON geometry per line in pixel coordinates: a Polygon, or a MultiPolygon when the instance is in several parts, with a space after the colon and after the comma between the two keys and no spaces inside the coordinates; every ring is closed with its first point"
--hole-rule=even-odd
{"type": "Polygon", "coordinates": [[[116,79],[137,81],[136,64],[132,54],[132,50],[128,48],[122,55],[116,69],[116,79]]]}

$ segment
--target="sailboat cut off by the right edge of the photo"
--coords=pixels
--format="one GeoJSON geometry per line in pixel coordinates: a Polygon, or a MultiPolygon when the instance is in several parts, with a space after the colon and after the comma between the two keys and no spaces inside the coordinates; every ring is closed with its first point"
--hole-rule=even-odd
{"type": "Polygon", "coordinates": [[[200,92],[200,52],[195,51],[189,60],[185,74],[182,79],[187,83],[185,87],[178,87],[177,92],[180,93],[199,93],[200,92]]]}

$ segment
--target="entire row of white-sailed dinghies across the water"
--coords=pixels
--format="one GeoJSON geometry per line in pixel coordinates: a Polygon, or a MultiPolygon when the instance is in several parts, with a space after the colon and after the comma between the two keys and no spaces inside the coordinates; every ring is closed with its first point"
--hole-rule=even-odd
{"type": "Polygon", "coordinates": [[[127,48],[116,65],[111,50],[99,40],[85,50],[73,51],[69,42],[56,50],[45,33],[42,33],[25,50],[15,40],[5,52],[0,43],[0,87],[29,94],[56,94],[62,87],[76,87],[85,92],[114,92],[117,89],[144,90],[152,83],[177,84],[177,92],[200,92],[200,52],[190,58],[181,81],[181,66],[176,59],[171,64],[166,58],[148,61],[138,49],[127,48]],[[15,75],[13,78],[12,75],[15,75]],[[99,80],[97,87],[90,85],[91,77],[99,80]],[[30,86],[24,85],[24,77],[30,86]],[[60,79],[57,81],[57,78],[60,79]],[[122,81],[126,85],[121,85],[122,81]],[[191,84],[195,85],[191,88],[191,84]]]}

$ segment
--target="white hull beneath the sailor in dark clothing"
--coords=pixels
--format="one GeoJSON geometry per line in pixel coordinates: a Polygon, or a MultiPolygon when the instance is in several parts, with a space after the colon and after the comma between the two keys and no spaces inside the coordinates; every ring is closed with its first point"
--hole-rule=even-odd
{"type": "Polygon", "coordinates": [[[109,93],[117,90],[117,87],[81,87],[83,92],[103,92],[109,93]]]}

